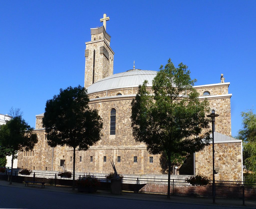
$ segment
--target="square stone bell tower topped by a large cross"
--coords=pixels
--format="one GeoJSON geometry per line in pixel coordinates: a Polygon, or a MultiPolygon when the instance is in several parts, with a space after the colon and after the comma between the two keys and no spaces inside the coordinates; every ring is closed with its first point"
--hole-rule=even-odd
{"type": "Polygon", "coordinates": [[[106,32],[106,14],[100,19],[103,26],[91,28],[91,41],[86,42],[84,87],[113,75],[114,52],[110,47],[111,36],[106,32]]]}

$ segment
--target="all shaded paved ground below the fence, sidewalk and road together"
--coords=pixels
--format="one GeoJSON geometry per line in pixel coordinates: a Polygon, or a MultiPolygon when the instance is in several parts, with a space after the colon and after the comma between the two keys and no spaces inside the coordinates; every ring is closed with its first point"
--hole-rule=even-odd
{"type": "MultiPolygon", "coordinates": [[[[70,187],[0,180],[0,208],[240,208],[241,199],[216,198],[215,205],[209,197],[171,196],[123,192],[112,195],[110,191],[97,191],[94,194],[72,191],[70,187]]],[[[256,200],[246,200],[246,208],[256,208],[256,200]]]]}

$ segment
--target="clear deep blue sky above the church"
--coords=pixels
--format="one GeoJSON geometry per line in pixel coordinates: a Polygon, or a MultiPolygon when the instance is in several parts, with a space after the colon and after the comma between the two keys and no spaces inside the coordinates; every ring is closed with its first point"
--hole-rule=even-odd
{"type": "MultiPolygon", "coordinates": [[[[110,17],[114,73],[183,62],[195,85],[230,82],[232,135],[255,108],[256,1],[1,1],[0,113],[35,127],[47,99],[84,85],[84,42],[110,17]]],[[[255,112],[255,111],[254,111],[255,112]]]]}

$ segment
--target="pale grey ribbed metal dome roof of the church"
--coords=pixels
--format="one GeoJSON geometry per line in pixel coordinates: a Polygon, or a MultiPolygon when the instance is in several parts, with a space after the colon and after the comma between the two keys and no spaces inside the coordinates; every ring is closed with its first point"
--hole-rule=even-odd
{"type": "Polygon", "coordinates": [[[157,71],[132,69],[124,73],[117,73],[109,77],[98,80],[88,87],[88,94],[117,88],[137,87],[142,85],[144,80],[148,81],[148,86],[152,86],[152,80],[157,71]]]}

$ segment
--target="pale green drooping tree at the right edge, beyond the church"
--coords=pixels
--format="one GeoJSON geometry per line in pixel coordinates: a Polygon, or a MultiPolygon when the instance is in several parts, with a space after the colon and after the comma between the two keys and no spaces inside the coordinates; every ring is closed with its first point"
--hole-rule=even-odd
{"type": "Polygon", "coordinates": [[[252,110],[241,112],[242,127],[236,138],[243,140],[243,157],[247,168],[256,172],[256,114],[252,110]]]}

